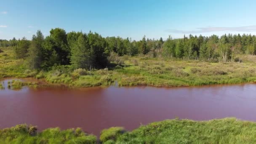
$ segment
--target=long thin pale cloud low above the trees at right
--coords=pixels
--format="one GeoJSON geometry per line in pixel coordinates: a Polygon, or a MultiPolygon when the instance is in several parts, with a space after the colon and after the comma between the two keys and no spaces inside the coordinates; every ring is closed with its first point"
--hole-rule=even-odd
{"type": "Polygon", "coordinates": [[[256,32],[256,25],[243,26],[243,27],[199,27],[197,30],[177,30],[167,29],[166,32],[193,34],[193,33],[205,33],[205,32],[221,32],[221,31],[233,31],[233,32],[256,32]]]}

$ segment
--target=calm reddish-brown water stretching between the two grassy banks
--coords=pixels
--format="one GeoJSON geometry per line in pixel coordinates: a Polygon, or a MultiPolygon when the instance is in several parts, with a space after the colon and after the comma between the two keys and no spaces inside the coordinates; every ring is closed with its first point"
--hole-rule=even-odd
{"type": "MultiPolygon", "coordinates": [[[[5,81],[7,85],[7,81],[5,81]]],[[[256,121],[256,85],[196,88],[60,88],[0,90],[0,128],[20,123],[39,130],[81,127],[99,135],[104,128],[127,130],[153,121],[237,117],[256,121]]]]}

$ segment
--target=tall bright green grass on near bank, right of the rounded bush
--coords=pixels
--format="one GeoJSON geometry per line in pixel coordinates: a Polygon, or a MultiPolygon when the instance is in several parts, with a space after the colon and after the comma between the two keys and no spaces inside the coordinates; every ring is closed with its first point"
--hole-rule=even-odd
{"type": "Polygon", "coordinates": [[[253,144],[256,123],[225,118],[210,121],[165,120],[119,135],[114,144],[253,144]]]}

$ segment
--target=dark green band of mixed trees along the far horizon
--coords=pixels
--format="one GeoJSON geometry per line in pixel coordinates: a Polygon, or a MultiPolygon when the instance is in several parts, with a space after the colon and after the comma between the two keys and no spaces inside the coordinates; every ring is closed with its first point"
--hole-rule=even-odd
{"type": "Polygon", "coordinates": [[[31,69],[48,69],[54,65],[69,65],[74,68],[103,68],[108,64],[111,53],[123,55],[157,55],[167,59],[201,59],[205,61],[232,61],[236,54],[256,54],[255,35],[211,35],[209,37],[189,35],[180,39],[159,40],[123,39],[121,37],[101,37],[98,33],[69,32],[51,29],[44,37],[40,30],[32,40],[0,40],[0,47],[14,48],[17,59],[27,59],[31,69]]]}

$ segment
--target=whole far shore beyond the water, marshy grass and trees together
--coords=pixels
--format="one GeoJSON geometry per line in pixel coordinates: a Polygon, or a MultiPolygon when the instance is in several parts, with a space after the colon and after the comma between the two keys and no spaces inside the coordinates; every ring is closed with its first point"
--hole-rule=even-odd
{"type": "Polygon", "coordinates": [[[184,35],[166,40],[40,30],[0,40],[0,77],[45,78],[75,87],[190,86],[256,82],[255,35],[184,35]]]}

